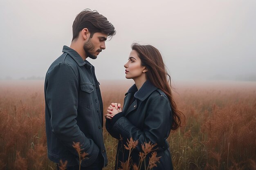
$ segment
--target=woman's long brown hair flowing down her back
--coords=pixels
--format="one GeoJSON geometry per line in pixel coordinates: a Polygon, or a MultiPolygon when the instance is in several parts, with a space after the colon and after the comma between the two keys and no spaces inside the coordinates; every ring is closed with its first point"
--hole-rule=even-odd
{"type": "Polygon", "coordinates": [[[177,109],[177,105],[173,99],[171,91],[171,77],[166,71],[164,61],[160,52],[151,45],[140,45],[137,43],[132,44],[132,50],[137,51],[141,60],[141,66],[146,66],[146,79],[148,79],[154,86],[163,91],[170,103],[173,115],[173,124],[171,129],[175,130],[181,125],[181,116],[184,114],[177,109]]]}

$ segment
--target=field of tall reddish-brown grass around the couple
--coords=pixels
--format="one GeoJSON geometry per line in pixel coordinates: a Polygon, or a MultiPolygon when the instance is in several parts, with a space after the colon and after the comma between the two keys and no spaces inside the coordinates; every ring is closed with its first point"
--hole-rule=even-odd
{"type": "MultiPolygon", "coordinates": [[[[101,82],[103,107],[123,104],[132,81],[101,82]]],[[[256,170],[256,82],[177,83],[186,116],[168,137],[175,170],[256,170]]],[[[47,159],[43,81],[0,82],[0,169],[55,170],[47,159]]],[[[104,121],[105,122],[105,121],[104,121]]],[[[117,140],[103,136],[113,170],[117,140]]]]}

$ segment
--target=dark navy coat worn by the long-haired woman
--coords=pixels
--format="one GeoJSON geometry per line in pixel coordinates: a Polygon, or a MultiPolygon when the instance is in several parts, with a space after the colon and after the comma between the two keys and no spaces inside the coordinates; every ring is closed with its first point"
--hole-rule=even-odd
{"type": "MultiPolygon", "coordinates": [[[[112,120],[106,120],[106,129],[110,135],[119,139],[116,156],[115,169],[121,168],[121,162],[128,160],[129,150],[124,148],[127,139],[132,137],[139,143],[132,150],[132,163],[139,163],[139,152],[142,152],[141,144],[151,141],[157,144],[157,157],[160,163],[153,170],[173,170],[171,155],[166,138],[169,136],[172,125],[171,105],[167,96],[146,81],[137,91],[135,84],[126,93],[124,107],[121,113],[115,115],[112,120]],[[130,100],[135,97],[135,101],[129,106],[130,100]],[[120,135],[122,139],[120,139],[120,135]]],[[[151,154],[148,154],[150,157],[151,154]]],[[[148,157],[146,166],[148,166],[148,157]]],[[[144,166],[141,167],[144,170],[144,166]]]]}

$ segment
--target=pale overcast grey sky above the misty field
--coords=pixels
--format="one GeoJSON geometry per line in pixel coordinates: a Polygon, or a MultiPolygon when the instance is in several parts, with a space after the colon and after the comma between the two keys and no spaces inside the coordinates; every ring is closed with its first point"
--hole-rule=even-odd
{"type": "Polygon", "coordinates": [[[256,77],[256,0],[1,0],[0,79],[45,77],[86,8],[117,31],[88,60],[98,79],[125,79],[133,42],[159,49],[173,80],[256,77]]]}

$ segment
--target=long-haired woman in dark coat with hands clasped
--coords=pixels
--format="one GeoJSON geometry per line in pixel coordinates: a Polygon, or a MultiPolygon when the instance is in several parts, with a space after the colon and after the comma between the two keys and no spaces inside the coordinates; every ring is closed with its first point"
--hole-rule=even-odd
{"type": "Polygon", "coordinates": [[[152,154],[143,158],[141,144],[145,146],[145,143],[150,142],[159,157],[155,160],[157,167],[152,164],[150,168],[173,170],[166,138],[171,129],[180,126],[182,112],[177,110],[173,100],[168,83],[170,76],[162,56],[151,45],[135,43],[132,44],[132,51],[124,67],[126,78],[133,79],[135,84],[126,93],[123,109],[120,108],[121,104],[112,103],[105,115],[106,129],[112,137],[119,139],[115,169],[124,166],[121,162],[126,161],[130,165],[136,163],[141,170],[147,169],[152,154]],[[132,152],[126,144],[130,138],[138,141],[132,152]],[[139,161],[141,158],[144,160],[139,161]]]}

